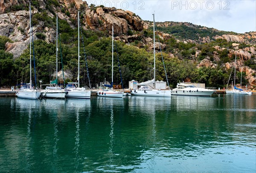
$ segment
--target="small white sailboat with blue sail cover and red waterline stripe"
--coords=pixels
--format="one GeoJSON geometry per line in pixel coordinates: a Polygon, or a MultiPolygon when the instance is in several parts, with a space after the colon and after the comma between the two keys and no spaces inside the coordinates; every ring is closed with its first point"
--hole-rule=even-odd
{"type": "Polygon", "coordinates": [[[114,91],[113,90],[113,52],[114,52],[114,29],[112,26],[112,79],[111,79],[111,85],[105,85],[105,87],[111,88],[111,89],[105,89],[105,90],[100,90],[97,91],[97,96],[102,96],[102,97],[119,97],[122,98],[124,95],[123,91],[114,91]]]}

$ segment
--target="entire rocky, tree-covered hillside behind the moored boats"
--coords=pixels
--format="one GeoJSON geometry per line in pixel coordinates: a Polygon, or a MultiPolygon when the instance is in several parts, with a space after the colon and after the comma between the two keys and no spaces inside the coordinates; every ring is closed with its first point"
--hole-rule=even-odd
{"type": "MultiPolygon", "coordinates": [[[[0,87],[26,82],[28,74],[27,46],[29,44],[29,12],[27,0],[11,0],[0,4],[0,87]]],[[[125,85],[140,80],[152,64],[152,22],[143,21],[131,11],[104,6],[88,6],[81,0],[32,0],[36,68],[38,78],[48,83],[54,73],[56,15],[59,17],[62,57],[66,79],[77,76],[77,11],[80,12],[84,46],[91,83],[110,76],[108,58],[111,54],[111,26],[114,26],[116,49],[122,65],[125,85]]],[[[157,24],[156,49],[163,50],[171,87],[182,80],[204,82],[207,86],[224,87],[227,84],[234,56],[237,71],[243,66],[243,82],[256,87],[256,32],[237,34],[192,23],[164,22],[157,24]]],[[[80,44],[80,46],[82,46],[80,44]]],[[[80,48],[84,54],[83,48],[80,48]]],[[[87,85],[85,57],[81,62],[87,85]]],[[[157,54],[157,79],[164,80],[162,57],[157,54]]],[[[118,70],[116,69],[116,73],[118,70]]],[[[238,74],[239,75],[239,74],[238,74]]],[[[240,74],[241,75],[241,74],[240,74]]],[[[116,75],[116,83],[120,82],[116,75]]]]}

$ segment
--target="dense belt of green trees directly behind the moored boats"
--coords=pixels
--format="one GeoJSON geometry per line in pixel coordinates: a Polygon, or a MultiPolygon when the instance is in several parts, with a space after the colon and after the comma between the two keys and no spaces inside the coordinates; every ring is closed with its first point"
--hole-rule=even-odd
{"type": "MultiPolygon", "coordinates": [[[[92,37],[89,36],[88,40],[92,37]]],[[[43,80],[48,83],[54,79],[55,73],[55,44],[48,44],[43,40],[35,41],[35,58],[38,80],[43,80]]],[[[122,77],[124,84],[127,87],[128,81],[135,79],[152,79],[153,69],[153,54],[138,49],[131,45],[116,42],[117,53],[121,64],[122,77]],[[145,76],[145,74],[148,74],[145,76]]],[[[62,44],[62,57],[64,70],[70,70],[73,74],[73,79],[77,76],[77,41],[72,44],[62,44]]],[[[80,49],[80,55],[83,55],[83,48],[80,49]]],[[[110,81],[111,77],[111,39],[102,38],[92,43],[88,43],[85,47],[88,67],[90,73],[90,82],[93,84],[106,80],[110,81]]],[[[116,52],[114,53],[115,64],[117,65],[116,52]]],[[[27,49],[19,58],[13,60],[12,54],[0,51],[2,59],[1,63],[1,84],[15,85],[20,81],[29,81],[29,50],[27,49]]],[[[59,56],[60,57],[60,56],[59,56]]],[[[81,56],[82,57],[82,56],[81,56]]],[[[162,57],[158,53],[157,57],[157,80],[165,80],[163,70],[162,57]]],[[[170,86],[174,88],[176,83],[187,78],[193,82],[206,83],[206,86],[223,87],[229,77],[225,71],[220,68],[196,68],[196,64],[190,60],[180,60],[178,58],[169,58],[168,54],[163,53],[166,71],[170,86]]],[[[84,57],[81,58],[81,84],[88,85],[87,71],[84,64],[84,57]]],[[[61,63],[59,63],[60,68],[61,63]]],[[[239,74],[238,74],[239,75],[239,74]]],[[[68,81],[70,81],[68,80],[68,81]]],[[[66,81],[66,82],[68,82],[66,81]]],[[[120,77],[118,68],[114,68],[114,82],[119,84],[120,77]]],[[[94,85],[96,86],[96,85],[94,85]]]]}

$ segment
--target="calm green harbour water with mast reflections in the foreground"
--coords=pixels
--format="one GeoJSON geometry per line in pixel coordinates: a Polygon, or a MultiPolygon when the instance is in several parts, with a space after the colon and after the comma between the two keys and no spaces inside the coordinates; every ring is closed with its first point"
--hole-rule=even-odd
{"type": "Polygon", "coordinates": [[[0,98],[0,172],[255,173],[256,95],[0,98]]]}

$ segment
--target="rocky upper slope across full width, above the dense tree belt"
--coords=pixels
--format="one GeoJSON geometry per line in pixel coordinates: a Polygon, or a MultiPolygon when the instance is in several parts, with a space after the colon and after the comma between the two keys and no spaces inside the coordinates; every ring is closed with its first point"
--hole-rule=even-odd
{"type": "MultiPolygon", "coordinates": [[[[105,33],[111,34],[111,27],[114,26],[116,40],[126,44],[137,42],[136,46],[138,48],[145,48],[148,51],[153,49],[152,33],[145,34],[145,31],[149,32],[151,30],[153,23],[143,21],[131,11],[107,8],[104,6],[88,6],[87,3],[82,0],[51,1],[54,3],[49,3],[47,0],[33,2],[32,16],[40,16],[33,25],[35,40],[38,39],[36,33],[42,33],[45,35],[44,40],[47,43],[55,42],[55,26],[49,25],[49,22],[46,21],[45,18],[49,17],[49,19],[53,21],[55,20],[56,14],[58,14],[61,20],[67,21],[71,28],[76,28],[78,26],[77,11],[79,10],[81,14],[81,26],[85,30],[104,31],[105,33]]],[[[6,51],[12,53],[15,58],[20,57],[20,54],[23,53],[23,50],[25,50],[29,44],[30,28],[28,3],[29,0],[0,0],[0,35],[9,37],[9,39],[14,41],[14,43],[6,43],[6,51]]],[[[213,41],[222,39],[233,43],[232,46],[228,48],[228,58],[231,62],[234,54],[237,54],[239,58],[239,61],[237,61],[237,70],[239,70],[239,67],[244,66],[245,61],[256,61],[255,31],[237,34],[184,22],[164,22],[156,24],[158,28],[157,33],[160,37],[160,43],[156,43],[157,50],[160,50],[160,47],[163,50],[168,48],[168,40],[172,38],[175,38],[177,43],[194,43],[195,45],[212,43],[213,41]],[[190,34],[188,37],[186,32],[173,33],[173,27],[175,27],[175,31],[189,31],[189,33],[193,34],[190,34]],[[241,48],[241,46],[239,46],[240,44],[249,45],[245,45],[241,48]]],[[[198,68],[204,66],[217,68],[218,62],[221,60],[220,54],[226,48],[221,46],[213,46],[213,48],[215,51],[212,51],[212,57],[207,56],[203,60],[198,60],[202,51],[198,50],[196,46],[192,47],[190,51],[194,51],[195,53],[190,54],[189,59],[196,62],[198,68]]],[[[169,58],[183,58],[180,56],[181,51],[183,50],[174,49],[167,53],[169,54],[169,58]]],[[[230,62],[222,64],[221,67],[226,69],[232,68],[230,62]]],[[[243,71],[246,72],[250,85],[255,86],[255,69],[246,66],[243,71]]]]}

